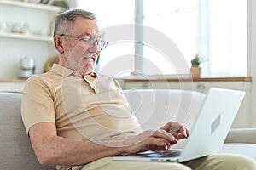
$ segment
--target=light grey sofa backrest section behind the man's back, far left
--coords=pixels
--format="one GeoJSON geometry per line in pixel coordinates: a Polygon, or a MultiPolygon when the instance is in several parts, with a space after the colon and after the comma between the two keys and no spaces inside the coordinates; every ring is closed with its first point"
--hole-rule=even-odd
{"type": "Polygon", "coordinates": [[[33,153],[20,116],[22,94],[0,93],[0,169],[49,170],[33,153]]]}

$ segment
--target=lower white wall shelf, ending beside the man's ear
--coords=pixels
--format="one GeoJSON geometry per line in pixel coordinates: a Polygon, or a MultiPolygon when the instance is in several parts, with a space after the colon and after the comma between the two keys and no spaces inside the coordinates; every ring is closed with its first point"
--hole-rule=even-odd
{"type": "Polygon", "coordinates": [[[53,37],[50,36],[39,36],[39,35],[27,35],[27,34],[19,34],[19,33],[0,33],[1,37],[7,38],[16,38],[16,39],[24,39],[24,40],[33,40],[33,41],[42,41],[42,42],[52,42],[53,37]]]}

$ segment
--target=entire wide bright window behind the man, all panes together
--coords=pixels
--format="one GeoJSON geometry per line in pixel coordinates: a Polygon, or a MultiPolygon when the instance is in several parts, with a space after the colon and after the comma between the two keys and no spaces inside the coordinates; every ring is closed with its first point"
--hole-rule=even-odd
{"type": "MultiPolygon", "coordinates": [[[[135,22],[143,24],[131,28],[135,29],[134,37],[140,35],[138,40],[142,42],[117,41],[102,51],[101,65],[103,70],[106,67],[105,71],[118,67],[115,72],[123,69],[122,73],[127,73],[139,68],[145,75],[189,73],[190,60],[200,54],[202,77],[247,76],[245,0],[78,0],[78,6],[96,13],[103,30],[135,22]],[[158,32],[153,36],[166,37],[177,46],[182,54],[177,55],[181,65],[160,48],[169,44],[167,39],[167,44],[147,42],[148,30],[158,32]],[[179,66],[187,69],[180,71],[179,66]]],[[[111,37],[107,31],[108,41],[111,37]]],[[[125,30],[116,32],[125,34],[125,30]]]]}

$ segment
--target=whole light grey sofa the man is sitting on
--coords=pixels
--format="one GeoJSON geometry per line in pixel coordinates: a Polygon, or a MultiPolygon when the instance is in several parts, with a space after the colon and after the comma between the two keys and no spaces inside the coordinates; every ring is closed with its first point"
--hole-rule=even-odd
{"type": "MultiPolygon", "coordinates": [[[[134,89],[124,93],[143,129],[160,127],[170,119],[191,128],[205,98],[205,94],[186,90],[134,89]]],[[[18,93],[0,93],[1,170],[55,169],[41,166],[33,153],[20,116],[21,97],[22,94],[18,93]]],[[[174,147],[182,148],[184,143],[182,140],[174,147]]],[[[230,129],[220,152],[241,154],[256,160],[256,129],[230,129]]]]}

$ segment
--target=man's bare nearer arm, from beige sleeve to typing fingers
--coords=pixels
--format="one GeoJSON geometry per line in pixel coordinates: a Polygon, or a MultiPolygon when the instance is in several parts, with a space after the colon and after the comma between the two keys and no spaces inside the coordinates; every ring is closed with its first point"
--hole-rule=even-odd
{"type": "Polygon", "coordinates": [[[146,150],[167,150],[177,140],[164,130],[146,131],[125,140],[96,144],[90,140],[66,139],[57,136],[55,123],[41,122],[29,130],[38,161],[42,165],[79,165],[102,157],[146,150]]]}

